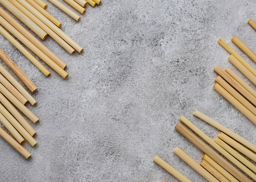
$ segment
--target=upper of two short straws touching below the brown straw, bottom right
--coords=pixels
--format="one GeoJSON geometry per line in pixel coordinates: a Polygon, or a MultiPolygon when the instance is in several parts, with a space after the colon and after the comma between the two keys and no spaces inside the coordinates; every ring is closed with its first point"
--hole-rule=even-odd
{"type": "Polygon", "coordinates": [[[231,182],[239,182],[233,175],[231,175],[228,171],[226,171],[226,169],[224,169],[223,167],[221,167],[217,162],[215,162],[214,160],[212,160],[212,158],[210,158],[209,156],[207,156],[206,154],[204,154],[204,156],[202,157],[203,160],[205,160],[206,162],[208,162],[208,164],[210,164],[212,167],[214,167],[217,171],[219,171],[223,176],[225,176],[225,178],[227,178],[229,181],[231,182]]]}

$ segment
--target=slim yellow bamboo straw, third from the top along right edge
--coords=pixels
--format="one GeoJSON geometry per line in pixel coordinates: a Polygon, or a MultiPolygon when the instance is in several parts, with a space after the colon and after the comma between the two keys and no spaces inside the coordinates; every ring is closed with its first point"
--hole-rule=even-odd
{"type": "Polygon", "coordinates": [[[250,72],[256,76],[256,70],[247,62],[243,57],[241,57],[233,48],[229,46],[222,38],[218,40],[218,43],[222,45],[231,55],[234,55],[250,72]]]}

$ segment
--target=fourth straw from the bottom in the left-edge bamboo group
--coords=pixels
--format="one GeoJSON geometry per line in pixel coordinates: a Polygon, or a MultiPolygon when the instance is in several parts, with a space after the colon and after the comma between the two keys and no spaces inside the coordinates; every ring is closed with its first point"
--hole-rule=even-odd
{"type": "MultiPolygon", "coordinates": [[[[7,108],[7,110],[16,118],[16,120],[29,132],[31,136],[36,134],[31,125],[25,120],[25,118],[16,110],[16,108],[0,93],[0,102],[7,108]]],[[[2,112],[2,111],[1,111],[2,112]]]]}

